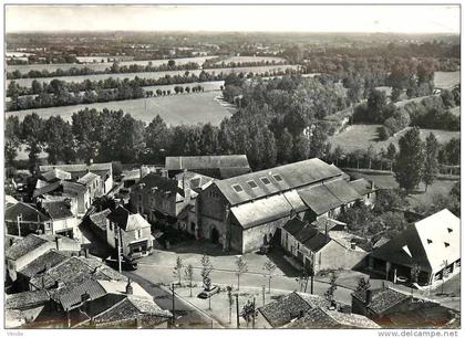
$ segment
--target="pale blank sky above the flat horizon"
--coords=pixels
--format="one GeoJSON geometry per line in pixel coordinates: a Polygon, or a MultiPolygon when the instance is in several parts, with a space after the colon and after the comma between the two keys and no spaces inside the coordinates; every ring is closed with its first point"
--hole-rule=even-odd
{"type": "Polygon", "coordinates": [[[6,31],[459,33],[458,6],[7,6],[6,31]]]}

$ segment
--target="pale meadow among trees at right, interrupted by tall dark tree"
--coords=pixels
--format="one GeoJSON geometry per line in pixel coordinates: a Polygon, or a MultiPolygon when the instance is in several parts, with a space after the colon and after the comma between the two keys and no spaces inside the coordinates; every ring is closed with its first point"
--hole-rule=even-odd
{"type": "MultiPolygon", "coordinates": [[[[381,148],[388,148],[388,146],[393,142],[395,146],[399,145],[399,139],[406,130],[397,133],[395,136],[390,137],[388,140],[379,141],[378,138],[378,128],[381,125],[353,125],[349,126],[344,131],[331,136],[329,138],[332,148],[340,146],[345,151],[353,151],[356,149],[366,150],[371,145],[375,150],[381,148]]],[[[422,139],[425,139],[430,133],[433,133],[438,142],[444,144],[451,140],[453,137],[458,138],[461,136],[459,131],[446,131],[446,130],[436,130],[436,129],[420,129],[420,136],[422,139]]]]}

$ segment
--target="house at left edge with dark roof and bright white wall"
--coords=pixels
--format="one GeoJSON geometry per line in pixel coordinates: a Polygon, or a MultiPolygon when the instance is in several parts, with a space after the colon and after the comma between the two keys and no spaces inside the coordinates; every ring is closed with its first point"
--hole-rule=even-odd
{"type": "Polygon", "coordinates": [[[79,221],[71,212],[71,201],[39,200],[37,205],[18,202],[4,211],[9,234],[60,234],[80,239],[79,221]]]}

